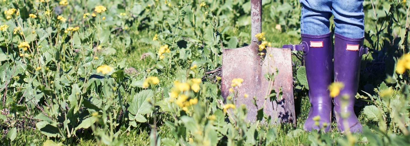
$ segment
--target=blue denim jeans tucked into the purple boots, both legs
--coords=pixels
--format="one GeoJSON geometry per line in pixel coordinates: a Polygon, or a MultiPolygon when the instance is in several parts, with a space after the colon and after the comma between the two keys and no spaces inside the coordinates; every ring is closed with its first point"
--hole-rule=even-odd
{"type": "Polygon", "coordinates": [[[329,18],[334,16],[335,32],[348,38],[364,36],[363,0],[300,0],[301,33],[329,33],[329,18]]]}

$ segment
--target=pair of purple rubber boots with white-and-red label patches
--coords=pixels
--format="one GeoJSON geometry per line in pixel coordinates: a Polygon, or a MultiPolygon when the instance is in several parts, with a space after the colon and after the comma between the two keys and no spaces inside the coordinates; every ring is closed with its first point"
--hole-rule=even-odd
{"type": "Polygon", "coordinates": [[[312,105],[305,122],[305,130],[329,131],[333,103],[333,113],[339,131],[361,132],[362,125],[353,108],[358,91],[360,61],[362,55],[367,53],[367,48],[363,47],[364,38],[347,38],[335,33],[333,53],[330,33],[320,36],[307,34],[301,36],[309,84],[309,100],[312,105]],[[330,97],[328,90],[332,82],[344,85],[334,99],[330,97]]]}

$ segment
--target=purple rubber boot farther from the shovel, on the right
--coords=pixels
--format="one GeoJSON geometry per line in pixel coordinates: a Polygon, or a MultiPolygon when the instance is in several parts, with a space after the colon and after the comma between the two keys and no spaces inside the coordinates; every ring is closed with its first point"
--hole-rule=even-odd
{"type": "Polygon", "coordinates": [[[362,125],[354,112],[355,95],[358,91],[360,61],[367,53],[363,47],[364,38],[352,39],[335,33],[335,82],[344,88],[334,99],[334,113],[339,131],[361,132],[362,125]]]}

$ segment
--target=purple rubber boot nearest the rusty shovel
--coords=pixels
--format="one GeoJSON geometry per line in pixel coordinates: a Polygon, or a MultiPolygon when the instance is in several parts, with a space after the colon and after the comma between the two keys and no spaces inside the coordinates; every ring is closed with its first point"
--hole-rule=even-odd
{"type": "Polygon", "coordinates": [[[330,33],[319,36],[301,34],[301,36],[302,45],[307,46],[304,48],[304,58],[309,84],[309,101],[312,105],[305,122],[305,130],[324,128],[327,132],[330,130],[332,116],[332,98],[328,90],[333,76],[332,39],[330,33]]]}

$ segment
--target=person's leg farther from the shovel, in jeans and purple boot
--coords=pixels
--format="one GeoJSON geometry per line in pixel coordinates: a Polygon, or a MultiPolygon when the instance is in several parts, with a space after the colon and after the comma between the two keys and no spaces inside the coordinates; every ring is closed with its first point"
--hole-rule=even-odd
{"type": "Polygon", "coordinates": [[[360,132],[362,125],[354,112],[358,91],[361,52],[364,51],[363,0],[333,0],[335,16],[335,82],[344,84],[334,99],[334,112],[340,131],[360,132]]]}

